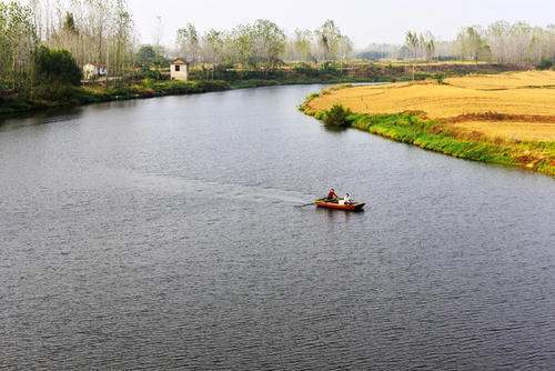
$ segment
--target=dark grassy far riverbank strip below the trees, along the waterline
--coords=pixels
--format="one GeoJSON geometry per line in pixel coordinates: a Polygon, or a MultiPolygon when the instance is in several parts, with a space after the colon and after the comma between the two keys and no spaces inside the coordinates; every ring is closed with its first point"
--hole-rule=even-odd
{"type": "Polygon", "coordinates": [[[352,62],[315,67],[306,63],[290,63],[274,71],[218,71],[215,79],[206,80],[205,71],[192,70],[192,81],[135,80],[113,81],[112,87],[101,83],[67,88],[42,98],[22,98],[0,90],[0,117],[32,113],[54,108],[77,107],[115,100],[147,99],[164,96],[274,87],[290,84],[336,84],[361,82],[395,82],[424,79],[444,79],[467,73],[501,73],[519,70],[525,66],[498,63],[369,63],[352,62]],[[59,98],[56,98],[59,97],[59,98]]]}

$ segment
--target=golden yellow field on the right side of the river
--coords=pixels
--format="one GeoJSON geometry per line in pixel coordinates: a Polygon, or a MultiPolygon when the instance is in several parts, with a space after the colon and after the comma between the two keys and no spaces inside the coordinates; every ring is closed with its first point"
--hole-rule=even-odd
{"type": "Polygon", "coordinates": [[[555,141],[555,71],[470,76],[340,89],[312,100],[313,111],[341,103],[357,113],[422,111],[458,129],[509,140],[555,141]],[[495,112],[504,119],[476,119],[495,112]],[[474,116],[461,119],[462,116],[474,116]],[[450,123],[451,122],[451,123],[450,123]]]}

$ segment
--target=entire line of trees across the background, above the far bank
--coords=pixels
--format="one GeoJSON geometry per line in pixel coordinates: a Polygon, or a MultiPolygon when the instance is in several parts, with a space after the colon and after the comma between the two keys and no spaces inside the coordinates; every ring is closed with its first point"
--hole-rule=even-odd
{"type": "MultiPolygon", "coordinates": [[[[159,18],[158,33],[162,28],[159,18]]],[[[85,63],[105,64],[110,76],[122,77],[141,67],[143,72],[152,72],[153,66],[167,68],[172,57],[212,70],[239,71],[273,70],[284,61],[326,66],[357,58],[353,42],[333,20],[291,33],[264,19],[229,30],[200,31],[186,23],[178,30],[173,47],[164,48],[160,34],[154,39],[150,46],[139,43],[125,0],[0,0],[0,90],[32,93],[44,79],[56,86],[51,82],[57,76],[77,83],[85,63]]],[[[403,46],[373,46],[359,56],[551,63],[555,61],[555,26],[498,21],[463,28],[452,41],[408,31],[403,46]]]]}

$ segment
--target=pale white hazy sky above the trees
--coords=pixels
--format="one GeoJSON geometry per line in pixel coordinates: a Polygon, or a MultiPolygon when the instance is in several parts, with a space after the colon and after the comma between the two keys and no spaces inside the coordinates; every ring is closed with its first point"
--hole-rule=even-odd
{"type": "Polygon", "coordinates": [[[400,43],[408,29],[451,39],[462,26],[502,19],[534,26],[555,23],[555,0],[129,0],[129,6],[143,42],[152,42],[157,16],[162,18],[167,44],[173,43],[175,30],[186,22],[203,31],[259,18],[290,32],[314,29],[333,19],[357,48],[370,42],[400,43]]]}

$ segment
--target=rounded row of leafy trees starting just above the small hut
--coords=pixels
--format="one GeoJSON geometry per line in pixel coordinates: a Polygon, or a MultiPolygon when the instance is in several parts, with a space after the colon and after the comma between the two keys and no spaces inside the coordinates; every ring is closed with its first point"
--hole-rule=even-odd
{"type": "Polygon", "coordinates": [[[333,20],[316,30],[297,29],[287,36],[272,21],[260,19],[232,30],[211,29],[200,33],[188,23],[178,30],[176,51],[191,63],[240,64],[274,68],[283,60],[333,62],[346,60],[353,42],[333,20]]]}

